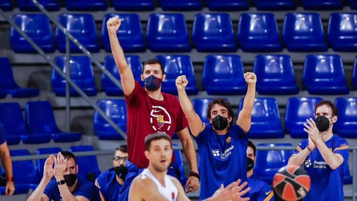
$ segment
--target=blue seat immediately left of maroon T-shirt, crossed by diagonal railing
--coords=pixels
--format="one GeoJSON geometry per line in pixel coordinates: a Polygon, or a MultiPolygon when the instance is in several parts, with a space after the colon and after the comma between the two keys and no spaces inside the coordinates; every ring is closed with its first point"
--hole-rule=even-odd
{"type": "MultiPolygon", "coordinates": [[[[124,99],[102,99],[97,106],[120,128],[126,132],[126,103],[124,99]]],[[[123,140],[121,135],[95,110],[93,116],[94,133],[101,140],[123,140]]]]}

